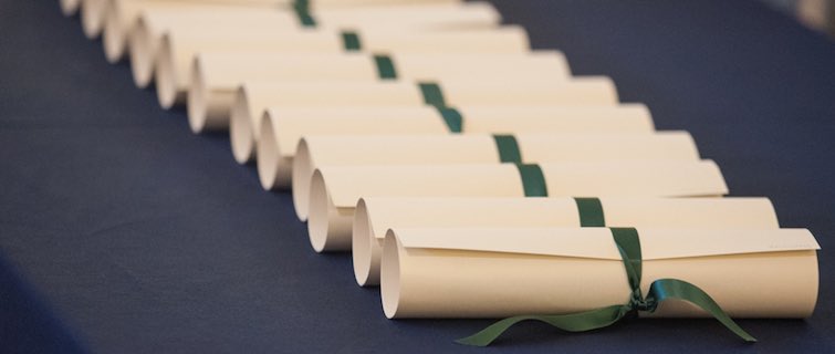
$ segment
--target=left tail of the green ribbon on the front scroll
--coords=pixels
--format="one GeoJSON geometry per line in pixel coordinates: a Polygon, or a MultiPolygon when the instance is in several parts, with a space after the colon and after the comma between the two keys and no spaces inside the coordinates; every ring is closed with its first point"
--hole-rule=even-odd
{"type": "Polygon", "coordinates": [[[539,321],[547,323],[566,332],[585,332],[614,324],[626,315],[628,309],[624,305],[612,305],[580,313],[564,315],[522,315],[498,321],[480,332],[456,340],[458,344],[488,346],[505,331],[523,321],[539,321]]]}

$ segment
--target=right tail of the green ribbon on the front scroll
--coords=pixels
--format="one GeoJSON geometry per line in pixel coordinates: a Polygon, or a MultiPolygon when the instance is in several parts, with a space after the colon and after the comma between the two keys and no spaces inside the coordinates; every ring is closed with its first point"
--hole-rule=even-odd
{"type": "Polygon", "coordinates": [[[649,287],[649,295],[647,296],[647,300],[660,303],[667,299],[690,302],[713,315],[714,319],[722,323],[728,330],[737,334],[740,339],[750,343],[756,342],[756,339],[740,327],[737,322],[733,322],[731,316],[729,316],[707,292],[699,289],[699,287],[678,279],[659,279],[654,281],[649,287]]]}

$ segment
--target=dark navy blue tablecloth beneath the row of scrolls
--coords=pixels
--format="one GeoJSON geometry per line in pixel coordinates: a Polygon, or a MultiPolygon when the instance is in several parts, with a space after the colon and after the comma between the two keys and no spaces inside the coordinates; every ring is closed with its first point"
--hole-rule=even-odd
{"type": "MultiPolygon", "coordinates": [[[[805,321],[647,320],[566,335],[389,321],[348,256],[311,251],[290,195],[225,135],[134,88],[56,1],[0,0],[0,352],[832,352],[835,45],[752,1],[497,1],[575,74],[614,77],[658,128],[688,129],[735,196],[769,196],[821,251],[805,321]]],[[[775,304],[779,305],[779,304],[775,304]]]]}

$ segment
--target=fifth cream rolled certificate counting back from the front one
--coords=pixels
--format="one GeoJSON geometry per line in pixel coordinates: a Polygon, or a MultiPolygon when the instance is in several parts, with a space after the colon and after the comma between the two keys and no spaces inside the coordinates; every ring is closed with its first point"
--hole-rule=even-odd
{"type": "MultiPolygon", "coordinates": [[[[312,135],[629,134],[653,129],[649,112],[641,105],[617,110],[554,106],[272,108],[261,122],[258,174],[264,189],[290,187],[299,142],[312,135]]],[[[296,211],[302,220],[306,219],[306,208],[296,211]]]]}

